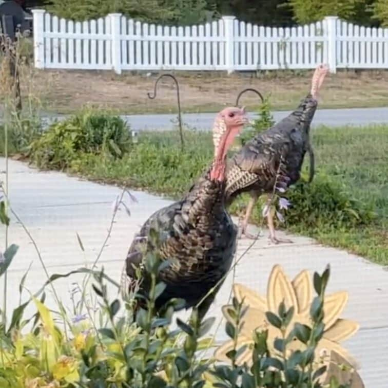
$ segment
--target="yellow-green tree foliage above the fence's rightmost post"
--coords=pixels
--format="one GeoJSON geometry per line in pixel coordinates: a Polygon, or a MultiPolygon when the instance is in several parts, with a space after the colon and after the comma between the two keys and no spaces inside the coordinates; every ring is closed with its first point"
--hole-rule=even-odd
{"type": "Polygon", "coordinates": [[[364,0],[289,0],[294,12],[294,19],[299,24],[313,23],[322,20],[325,16],[339,16],[344,20],[353,20],[358,7],[364,0]]]}

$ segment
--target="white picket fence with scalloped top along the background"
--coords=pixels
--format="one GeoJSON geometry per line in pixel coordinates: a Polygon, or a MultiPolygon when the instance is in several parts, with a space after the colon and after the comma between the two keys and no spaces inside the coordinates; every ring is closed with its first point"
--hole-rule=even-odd
{"type": "Polygon", "coordinates": [[[327,16],[305,26],[277,28],[234,16],[198,26],[141,23],[113,13],[73,22],[33,10],[37,68],[122,70],[388,68],[388,29],[327,16]]]}

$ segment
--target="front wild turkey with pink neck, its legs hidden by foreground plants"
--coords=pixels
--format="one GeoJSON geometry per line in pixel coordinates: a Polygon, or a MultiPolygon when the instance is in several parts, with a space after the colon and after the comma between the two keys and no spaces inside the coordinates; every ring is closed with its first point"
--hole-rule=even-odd
{"type": "MultiPolygon", "coordinates": [[[[235,254],[237,228],[224,206],[226,153],[246,122],[245,110],[236,107],[225,108],[217,115],[211,167],[182,200],[152,214],[143,225],[126,258],[124,291],[136,284],[135,268],[141,266],[145,254],[154,252],[162,260],[171,260],[160,273],[166,288],[156,308],[180,298],[185,300],[186,309],[201,302],[199,317],[205,316],[235,254]],[[156,243],[150,238],[151,229],[156,232],[156,243]],[[204,299],[213,287],[214,292],[204,299]]],[[[148,291],[146,278],[140,280],[141,293],[148,291]]]]}

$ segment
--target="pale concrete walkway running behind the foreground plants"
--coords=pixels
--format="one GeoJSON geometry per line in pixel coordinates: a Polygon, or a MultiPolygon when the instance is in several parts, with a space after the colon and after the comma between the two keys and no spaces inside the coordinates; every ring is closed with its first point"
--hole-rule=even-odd
{"type": "MultiPolygon", "coordinates": [[[[0,180],[5,180],[5,160],[0,158],[0,180]]],[[[38,172],[21,162],[9,161],[9,197],[13,209],[27,226],[39,247],[50,274],[65,273],[92,263],[107,235],[115,198],[121,190],[56,172],[38,172]],[[77,242],[82,239],[85,253],[77,242]]],[[[168,205],[170,201],[143,192],[131,192],[138,203],[125,196],[131,216],[121,209],[113,225],[100,266],[119,281],[123,260],[133,235],[147,217],[168,205]]],[[[388,272],[361,257],[334,248],[323,247],[312,239],[292,237],[294,244],[271,246],[266,237],[260,238],[244,256],[236,270],[236,282],[265,295],[267,279],[275,264],[280,264],[290,278],[300,270],[321,272],[331,264],[332,276],[328,292],[347,290],[350,298],[344,318],[360,323],[360,331],[344,346],[361,365],[360,374],[367,388],[386,388],[388,381],[388,272]]],[[[9,308],[18,303],[18,285],[32,262],[26,287],[37,290],[45,282],[33,245],[14,219],[9,242],[20,246],[10,269],[9,308]]],[[[250,242],[239,242],[238,256],[250,242]]],[[[0,226],[0,250],[4,250],[4,227],[0,226]]],[[[71,283],[82,276],[57,280],[60,297],[69,301],[71,283]]],[[[0,285],[2,286],[2,285],[0,285]]],[[[210,316],[221,316],[220,307],[229,297],[231,277],[224,283],[210,316]]],[[[3,288],[0,288],[2,294],[3,288]]],[[[50,291],[48,299],[50,299],[50,291]]],[[[25,295],[27,298],[27,295],[25,295]]],[[[24,299],[25,299],[24,298],[24,299]]],[[[111,295],[114,298],[114,295],[111,295]]],[[[50,302],[49,302],[50,303],[50,302]]],[[[66,302],[67,303],[67,302],[66,302]]],[[[32,308],[32,306],[31,306],[32,308]]],[[[32,311],[32,310],[31,310],[32,311]]],[[[222,331],[222,330],[221,330],[222,331]]],[[[220,335],[220,338],[224,338],[220,335]]]]}

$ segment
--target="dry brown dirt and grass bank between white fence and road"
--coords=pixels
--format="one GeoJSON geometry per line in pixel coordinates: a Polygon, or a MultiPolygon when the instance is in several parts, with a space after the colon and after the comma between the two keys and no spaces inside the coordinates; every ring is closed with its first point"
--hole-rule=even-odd
{"type": "MultiPolygon", "coordinates": [[[[34,91],[45,110],[70,113],[84,104],[118,109],[120,113],[167,113],[176,111],[176,90],[170,79],[159,84],[158,96],[149,100],[147,92],[160,73],[121,76],[110,71],[34,71],[34,91]]],[[[293,108],[309,90],[312,71],[235,73],[176,72],[185,112],[211,112],[234,104],[240,90],[258,89],[271,95],[274,109],[293,108]]],[[[27,81],[26,81],[27,83],[27,81]]],[[[321,93],[321,107],[384,106],[388,101],[388,71],[342,71],[329,75],[321,93]]],[[[258,98],[246,94],[241,103],[248,108],[258,98]]]]}

